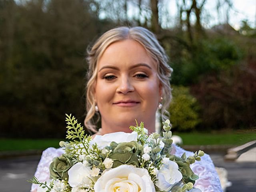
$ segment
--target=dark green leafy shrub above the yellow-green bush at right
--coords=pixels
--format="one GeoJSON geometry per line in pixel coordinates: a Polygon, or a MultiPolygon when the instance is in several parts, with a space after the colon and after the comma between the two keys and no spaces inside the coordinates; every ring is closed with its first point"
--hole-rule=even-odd
{"type": "Polygon", "coordinates": [[[228,70],[243,57],[239,46],[226,38],[203,39],[192,49],[190,52],[183,50],[172,62],[173,84],[197,83],[202,75],[228,70]]]}

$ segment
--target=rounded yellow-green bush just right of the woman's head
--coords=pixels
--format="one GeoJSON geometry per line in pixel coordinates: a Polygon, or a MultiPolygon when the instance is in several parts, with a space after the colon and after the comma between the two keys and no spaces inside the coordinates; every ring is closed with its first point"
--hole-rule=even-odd
{"type": "Polygon", "coordinates": [[[173,128],[178,131],[194,130],[201,122],[199,117],[200,107],[188,87],[174,86],[172,102],[168,111],[173,128]]]}

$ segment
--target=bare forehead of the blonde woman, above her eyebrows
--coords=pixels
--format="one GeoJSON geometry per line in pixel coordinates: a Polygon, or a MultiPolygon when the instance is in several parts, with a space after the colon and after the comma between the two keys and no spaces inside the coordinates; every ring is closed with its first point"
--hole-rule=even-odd
{"type": "Polygon", "coordinates": [[[98,69],[104,65],[127,65],[146,63],[156,68],[156,62],[137,41],[127,39],[110,44],[98,60],[98,69]]]}

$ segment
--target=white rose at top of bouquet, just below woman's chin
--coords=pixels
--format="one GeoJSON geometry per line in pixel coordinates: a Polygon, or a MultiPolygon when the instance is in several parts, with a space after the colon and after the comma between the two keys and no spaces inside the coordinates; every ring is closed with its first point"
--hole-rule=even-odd
{"type": "Polygon", "coordinates": [[[116,143],[121,142],[131,142],[137,141],[138,134],[137,132],[125,133],[125,132],[116,132],[102,135],[96,135],[92,140],[93,143],[96,143],[99,148],[104,148],[109,146],[112,141],[116,143]]]}

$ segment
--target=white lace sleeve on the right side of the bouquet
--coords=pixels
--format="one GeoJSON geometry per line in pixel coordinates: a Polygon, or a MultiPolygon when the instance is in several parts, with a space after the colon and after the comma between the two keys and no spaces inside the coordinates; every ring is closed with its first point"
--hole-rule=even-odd
{"type": "MultiPolygon", "coordinates": [[[[194,153],[186,151],[178,146],[176,148],[176,155],[181,156],[186,152],[186,156],[193,156],[194,153]]],[[[212,159],[208,154],[202,156],[201,161],[196,161],[191,165],[191,169],[199,176],[196,180],[195,187],[202,192],[222,192],[219,176],[215,170],[212,159]]]]}

